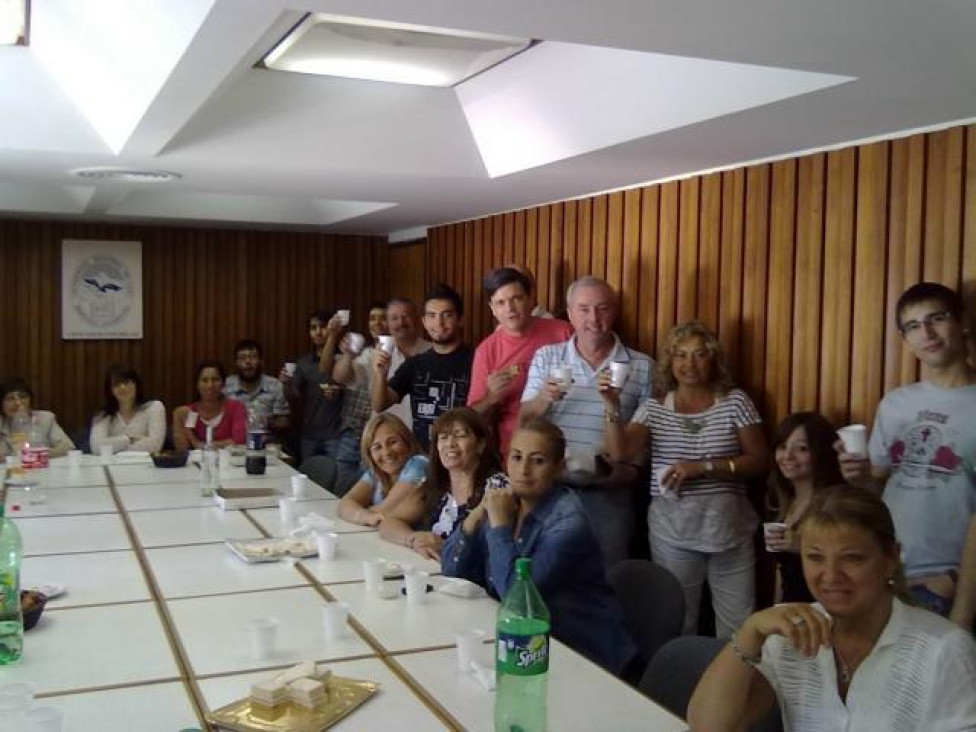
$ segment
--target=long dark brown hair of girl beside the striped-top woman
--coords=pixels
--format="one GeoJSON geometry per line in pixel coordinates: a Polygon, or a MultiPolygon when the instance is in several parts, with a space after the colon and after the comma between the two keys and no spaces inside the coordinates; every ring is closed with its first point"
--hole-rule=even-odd
{"type": "MultiPolygon", "coordinates": [[[[837,451],[834,449],[834,443],[840,438],[834,426],[821,414],[796,412],[780,422],[776,428],[776,436],[773,438],[774,455],[776,449],[786,444],[790,435],[801,427],[806,433],[807,446],[810,448],[814,495],[827,486],[843,483],[844,476],[841,475],[837,451]]],[[[792,481],[786,479],[779,469],[779,463],[774,459],[766,505],[782,521],[795,499],[796,488],[792,481]]]]}

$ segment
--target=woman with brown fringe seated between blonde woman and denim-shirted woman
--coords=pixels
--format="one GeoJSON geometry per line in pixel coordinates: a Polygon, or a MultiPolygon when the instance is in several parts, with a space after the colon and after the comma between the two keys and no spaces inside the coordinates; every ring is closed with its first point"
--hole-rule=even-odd
{"type": "Polygon", "coordinates": [[[481,502],[485,483],[493,476],[501,479],[504,475],[498,472],[488,427],[473,409],[459,407],[444,412],[432,426],[430,441],[423,530],[389,518],[380,524],[380,536],[439,560],[444,540],[481,502]]]}

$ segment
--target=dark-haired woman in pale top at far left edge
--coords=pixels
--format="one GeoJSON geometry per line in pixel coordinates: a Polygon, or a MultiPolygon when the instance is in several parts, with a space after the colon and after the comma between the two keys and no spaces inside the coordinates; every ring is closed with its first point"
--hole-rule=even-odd
{"type": "Polygon", "coordinates": [[[0,385],[0,458],[18,455],[24,443],[49,448],[49,457],[67,455],[74,449],[71,438],[58,424],[54,412],[33,409],[34,394],[23,379],[0,385]]]}

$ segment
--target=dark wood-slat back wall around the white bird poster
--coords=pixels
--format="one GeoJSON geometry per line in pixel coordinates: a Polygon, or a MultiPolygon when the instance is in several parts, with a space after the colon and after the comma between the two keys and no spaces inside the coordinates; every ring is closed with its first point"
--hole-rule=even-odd
{"type": "Polygon", "coordinates": [[[309,348],[316,308],[349,307],[365,332],[367,303],[389,293],[388,256],[381,237],[0,220],[0,378],[27,378],[70,430],[98,408],[112,363],[172,410],[193,394],[194,364],[232,369],[242,338],[277,374],[309,348]],[[142,242],[142,340],[61,339],[63,239],[142,242]]]}

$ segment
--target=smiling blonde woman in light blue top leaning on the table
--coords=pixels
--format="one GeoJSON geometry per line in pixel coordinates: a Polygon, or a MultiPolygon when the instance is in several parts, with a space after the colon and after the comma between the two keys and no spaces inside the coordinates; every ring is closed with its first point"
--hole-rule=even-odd
{"type": "Polygon", "coordinates": [[[361,447],[366,469],[339,501],[339,518],[362,526],[420,521],[427,457],[413,432],[398,417],[377,414],[366,423],[361,447]]]}

